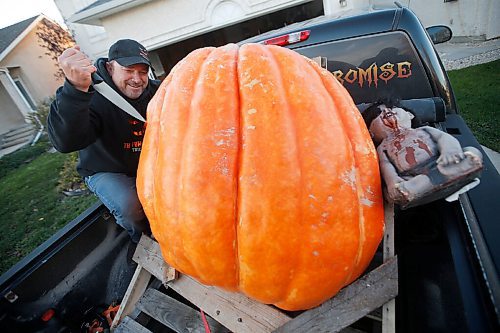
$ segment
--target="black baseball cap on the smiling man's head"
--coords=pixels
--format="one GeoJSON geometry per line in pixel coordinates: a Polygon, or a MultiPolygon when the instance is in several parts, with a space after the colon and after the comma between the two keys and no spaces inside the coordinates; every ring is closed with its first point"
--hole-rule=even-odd
{"type": "Polygon", "coordinates": [[[151,67],[148,50],[132,39],[120,39],[109,48],[108,61],[116,60],[122,66],[146,64],[151,67]]]}

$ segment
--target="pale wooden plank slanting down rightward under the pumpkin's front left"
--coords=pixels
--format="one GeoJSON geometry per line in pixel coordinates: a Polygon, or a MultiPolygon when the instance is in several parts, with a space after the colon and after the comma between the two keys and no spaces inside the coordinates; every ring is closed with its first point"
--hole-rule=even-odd
{"type": "Polygon", "coordinates": [[[168,284],[232,332],[271,332],[290,320],[274,307],[242,294],[205,286],[187,275],[168,284]]]}

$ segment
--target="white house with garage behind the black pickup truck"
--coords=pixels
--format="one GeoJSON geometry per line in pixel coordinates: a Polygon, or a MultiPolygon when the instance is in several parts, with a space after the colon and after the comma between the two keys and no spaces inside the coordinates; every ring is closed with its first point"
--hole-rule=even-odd
{"type": "MultiPolygon", "coordinates": [[[[120,38],[141,42],[163,78],[190,51],[237,42],[321,15],[394,6],[394,0],[54,0],[77,43],[94,60],[120,38]]],[[[454,36],[500,36],[498,0],[400,0],[424,26],[444,24],[454,36]]]]}

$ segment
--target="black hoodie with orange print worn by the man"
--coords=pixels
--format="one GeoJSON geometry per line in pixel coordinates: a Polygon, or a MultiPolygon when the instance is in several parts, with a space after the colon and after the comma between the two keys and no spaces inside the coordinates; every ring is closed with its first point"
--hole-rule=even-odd
{"type": "MultiPolygon", "coordinates": [[[[106,58],[96,61],[97,72],[120,93],[106,70],[106,61],[106,58]]],[[[120,94],[146,118],[147,105],[159,84],[149,80],[137,99],[120,94]]],[[[83,92],[66,80],[50,106],[47,125],[50,141],[58,151],[79,151],[77,170],[83,177],[97,172],[136,175],[145,125],[92,87],[89,92],[83,92]]]]}

